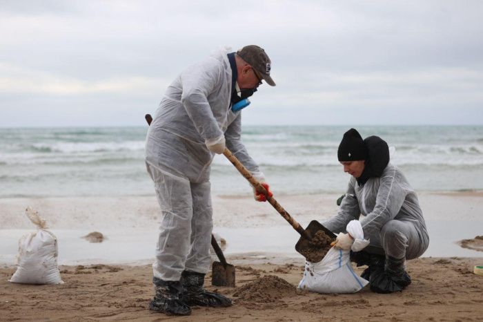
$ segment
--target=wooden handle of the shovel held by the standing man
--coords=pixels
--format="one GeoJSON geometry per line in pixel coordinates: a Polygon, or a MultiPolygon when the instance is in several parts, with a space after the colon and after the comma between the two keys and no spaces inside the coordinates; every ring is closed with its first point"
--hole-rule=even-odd
{"type": "Polygon", "coordinates": [[[253,177],[252,173],[250,173],[250,171],[248,171],[248,169],[244,167],[242,162],[239,162],[237,157],[235,157],[235,155],[233,155],[233,153],[231,153],[228,148],[225,148],[223,154],[228,160],[230,160],[235,168],[237,168],[239,173],[242,173],[242,176],[244,176],[245,179],[248,180],[248,182],[250,182],[250,184],[252,184],[255,189],[257,189],[259,193],[263,193],[266,196],[266,200],[270,202],[270,205],[272,205],[275,210],[277,210],[279,214],[281,214],[282,217],[284,217],[285,220],[287,220],[288,223],[292,225],[293,229],[295,229],[302,237],[307,238],[308,240],[312,239],[308,232],[305,231],[305,229],[303,229],[302,226],[300,226],[299,223],[290,216],[290,214],[288,214],[288,212],[277,202],[277,200],[275,200],[275,198],[268,196],[265,187],[262,186],[262,184],[260,184],[260,182],[258,182],[258,180],[253,177]]]}

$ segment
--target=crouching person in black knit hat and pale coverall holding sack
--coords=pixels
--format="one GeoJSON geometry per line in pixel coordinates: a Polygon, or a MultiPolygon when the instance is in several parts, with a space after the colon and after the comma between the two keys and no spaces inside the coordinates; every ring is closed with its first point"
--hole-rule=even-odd
{"type": "Polygon", "coordinates": [[[402,171],[389,163],[388,145],[377,136],[362,140],[359,132],[350,129],[337,157],[351,179],[339,213],[322,225],[339,233],[335,247],[348,250],[354,239],[346,226],[353,220],[351,224],[362,229],[369,245],[364,251],[351,252],[351,261],[368,265],[361,276],[373,292],[400,292],[411,283],[406,259],[421,256],[429,245],[416,193],[402,171]]]}

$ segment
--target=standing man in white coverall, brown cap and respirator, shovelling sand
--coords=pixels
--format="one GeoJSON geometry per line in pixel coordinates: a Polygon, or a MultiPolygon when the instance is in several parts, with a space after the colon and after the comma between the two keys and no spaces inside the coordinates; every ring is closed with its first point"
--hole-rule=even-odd
{"type": "MultiPolygon", "coordinates": [[[[156,294],[150,310],[188,315],[190,306],[226,307],[231,300],[207,292],[213,209],[210,164],[225,147],[260,182],[264,175],[241,142],[241,109],[270,77],[264,49],[250,45],[218,50],[184,70],[168,86],[146,138],[146,167],[161,207],[156,261],[156,294]]],[[[268,189],[268,184],[264,183],[268,189]]],[[[269,192],[270,193],[270,192],[269,192]]],[[[255,200],[266,201],[254,189],[255,200]]]]}

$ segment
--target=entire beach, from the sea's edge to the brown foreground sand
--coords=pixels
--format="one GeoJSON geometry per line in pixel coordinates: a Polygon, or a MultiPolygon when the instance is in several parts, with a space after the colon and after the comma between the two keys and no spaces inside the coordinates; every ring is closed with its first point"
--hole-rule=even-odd
{"type": "MultiPolygon", "coordinates": [[[[337,198],[277,196],[304,227],[335,214],[337,198]]],[[[482,265],[483,252],[460,245],[483,235],[483,193],[420,193],[420,202],[431,244],[424,258],[407,262],[413,283],[404,292],[375,294],[366,287],[356,294],[324,295],[296,294],[304,266],[293,249],[299,236],[270,205],[248,196],[214,196],[215,231],[227,241],[225,254],[236,266],[237,287],[211,287],[210,274],[206,285],[233,298],[234,305],[195,307],[191,316],[175,320],[481,321],[483,276],[473,274],[473,267],[482,265]],[[277,276],[292,286],[278,290],[264,276],[277,276]],[[250,282],[257,287],[242,292],[250,282]]],[[[173,319],[147,308],[154,292],[148,263],[158,212],[154,196],[0,199],[0,321],[173,319]],[[34,231],[23,214],[28,205],[57,235],[63,285],[8,282],[15,270],[17,240],[34,231]],[[92,231],[103,234],[101,243],[83,238],[92,231]]],[[[359,274],[362,268],[355,271],[359,274]]]]}

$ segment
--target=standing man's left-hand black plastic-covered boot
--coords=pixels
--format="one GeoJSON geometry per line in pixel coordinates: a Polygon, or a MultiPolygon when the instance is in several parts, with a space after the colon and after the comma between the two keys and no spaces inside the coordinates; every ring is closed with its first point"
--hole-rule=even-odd
{"type": "Polygon", "coordinates": [[[156,295],[149,303],[149,310],[163,312],[166,315],[190,315],[191,308],[181,299],[181,283],[179,281],[163,281],[161,278],[152,278],[155,284],[156,295]]]}

